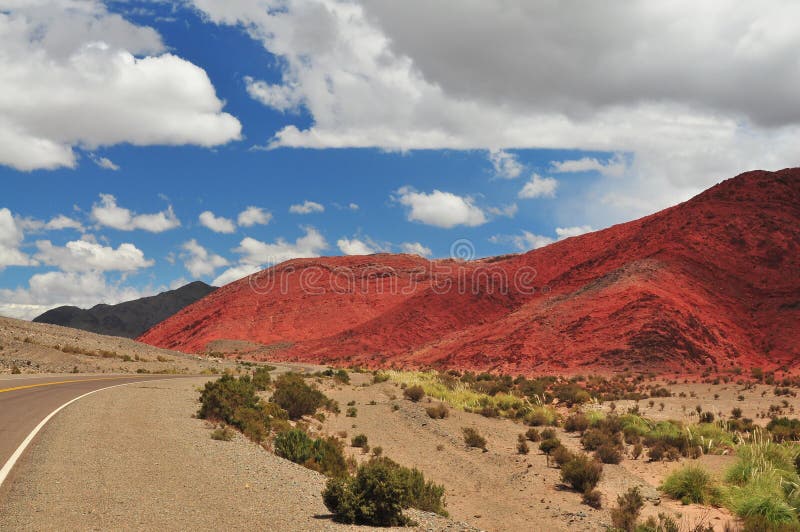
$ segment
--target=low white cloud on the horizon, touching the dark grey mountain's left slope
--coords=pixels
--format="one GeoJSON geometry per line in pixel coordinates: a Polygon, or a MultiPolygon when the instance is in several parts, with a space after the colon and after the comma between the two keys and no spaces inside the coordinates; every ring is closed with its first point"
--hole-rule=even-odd
{"type": "Polygon", "coordinates": [[[0,288],[0,315],[32,319],[61,305],[92,307],[103,302],[129,301],[159,290],[139,290],[109,282],[98,271],[37,273],[26,288],[0,288]]]}

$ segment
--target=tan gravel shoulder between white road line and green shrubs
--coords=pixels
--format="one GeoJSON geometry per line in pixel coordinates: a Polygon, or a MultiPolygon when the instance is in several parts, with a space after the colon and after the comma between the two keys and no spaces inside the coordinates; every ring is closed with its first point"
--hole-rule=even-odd
{"type": "MultiPolygon", "coordinates": [[[[318,473],[239,435],[212,440],[192,417],[207,380],[137,383],[65,409],[0,494],[0,529],[370,530],[331,521],[318,473]]],[[[424,530],[471,529],[409,515],[424,530]]]]}

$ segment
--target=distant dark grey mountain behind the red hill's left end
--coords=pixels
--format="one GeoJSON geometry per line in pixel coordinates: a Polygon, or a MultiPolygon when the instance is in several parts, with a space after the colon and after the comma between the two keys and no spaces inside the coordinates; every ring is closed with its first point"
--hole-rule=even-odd
{"type": "Polygon", "coordinates": [[[51,323],[73,327],[109,336],[136,338],[169,318],[182,308],[216,290],[201,281],[162,292],[155,296],[126,301],[117,305],[95,305],[90,309],[58,307],[33,319],[37,323],[51,323]]]}

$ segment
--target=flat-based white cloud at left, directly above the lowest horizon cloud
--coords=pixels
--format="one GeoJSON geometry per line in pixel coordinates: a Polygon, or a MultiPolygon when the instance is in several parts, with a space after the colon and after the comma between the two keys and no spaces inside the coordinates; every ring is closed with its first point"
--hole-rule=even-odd
{"type": "Polygon", "coordinates": [[[38,240],[35,258],[65,272],[120,271],[132,272],[147,268],[154,261],[133,244],[120,244],[116,249],[89,239],[73,240],[65,246],[54,246],[49,240],[38,240]]]}

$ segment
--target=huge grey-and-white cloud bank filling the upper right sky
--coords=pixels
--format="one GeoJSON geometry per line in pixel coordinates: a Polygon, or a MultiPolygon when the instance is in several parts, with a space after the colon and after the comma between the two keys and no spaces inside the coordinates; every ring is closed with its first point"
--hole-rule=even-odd
{"type": "Polygon", "coordinates": [[[595,199],[586,215],[600,224],[745,169],[800,163],[792,0],[736,9],[691,0],[608,9],[524,0],[194,4],[280,59],[281,82],[258,99],[278,110],[299,105],[311,120],[278,131],[271,147],[622,153],[622,178],[613,177],[621,167],[600,163],[604,179],[585,188],[595,199]]]}

